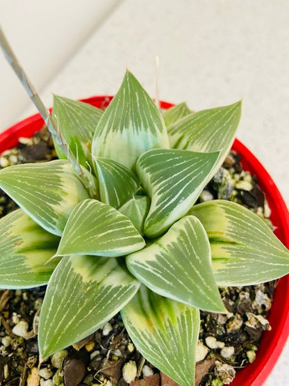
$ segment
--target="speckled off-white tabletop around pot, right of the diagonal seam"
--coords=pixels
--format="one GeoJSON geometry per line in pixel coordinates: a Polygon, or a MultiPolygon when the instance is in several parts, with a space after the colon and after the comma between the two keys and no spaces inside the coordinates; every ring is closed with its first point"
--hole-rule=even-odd
{"type": "MultiPolygon", "coordinates": [[[[48,105],[51,93],[113,94],[128,67],[154,95],[156,56],[160,99],[196,111],[243,99],[238,138],[288,204],[289,2],[123,1],[40,92],[48,105]]],[[[266,386],[289,385],[288,358],[289,344],[266,386]]]]}

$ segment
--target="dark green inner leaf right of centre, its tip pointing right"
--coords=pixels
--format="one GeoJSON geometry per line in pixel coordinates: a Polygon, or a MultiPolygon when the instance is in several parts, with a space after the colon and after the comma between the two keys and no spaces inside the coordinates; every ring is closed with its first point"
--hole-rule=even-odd
{"type": "Polygon", "coordinates": [[[187,213],[206,186],[218,156],[218,152],[174,149],[150,150],[140,156],[136,170],[151,198],[146,236],[160,236],[187,213]]]}

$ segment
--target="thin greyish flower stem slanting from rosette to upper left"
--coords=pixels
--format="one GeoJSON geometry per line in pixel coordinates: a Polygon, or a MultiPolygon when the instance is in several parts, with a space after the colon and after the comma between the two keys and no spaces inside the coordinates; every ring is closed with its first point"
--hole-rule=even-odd
{"type": "Polygon", "coordinates": [[[10,64],[10,66],[13,68],[15,74],[19,78],[19,80],[22,83],[22,86],[26,90],[26,93],[30,97],[31,101],[35,105],[35,107],[38,109],[40,115],[42,116],[45,124],[47,124],[47,127],[51,133],[51,135],[55,138],[56,143],[60,146],[61,150],[67,157],[67,160],[74,168],[74,171],[77,175],[81,178],[81,181],[85,185],[86,188],[88,188],[89,191],[92,191],[92,195],[95,195],[95,188],[94,183],[92,182],[92,179],[90,179],[89,173],[81,164],[79,163],[78,159],[74,156],[72,153],[69,145],[64,140],[63,136],[60,133],[60,129],[58,127],[58,124],[56,123],[56,120],[53,118],[53,115],[49,113],[49,109],[44,106],[40,96],[38,95],[37,91],[35,90],[33,84],[28,79],[26,73],[24,72],[22,66],[20,65],[19,61],[17,60],[17,57],[15,56],[13,49],[10,47],[10,44],[8,40],[6,39],[6,36],[4,35],[1,26],[0,26],[0,46],[3,50],[3,53],[10,64]]]}

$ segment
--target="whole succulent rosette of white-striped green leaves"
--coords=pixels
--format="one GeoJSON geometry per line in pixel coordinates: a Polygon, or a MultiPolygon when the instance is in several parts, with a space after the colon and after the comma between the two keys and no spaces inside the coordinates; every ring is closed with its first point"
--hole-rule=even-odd
{"type": "Polygon", "coordinates": [[[59,160],[0,172],[20,208],[1,219],[0,287],[47,284],[42,357],[121,311],[140,353],[193,385],[199,309],[226,312],[218,286],[289,272],[288,250],[256,214],[195,204],[233,143],[240,102],[161,113],[126,72],[105,111],[55,97],[53,119],[59,160]]]}

